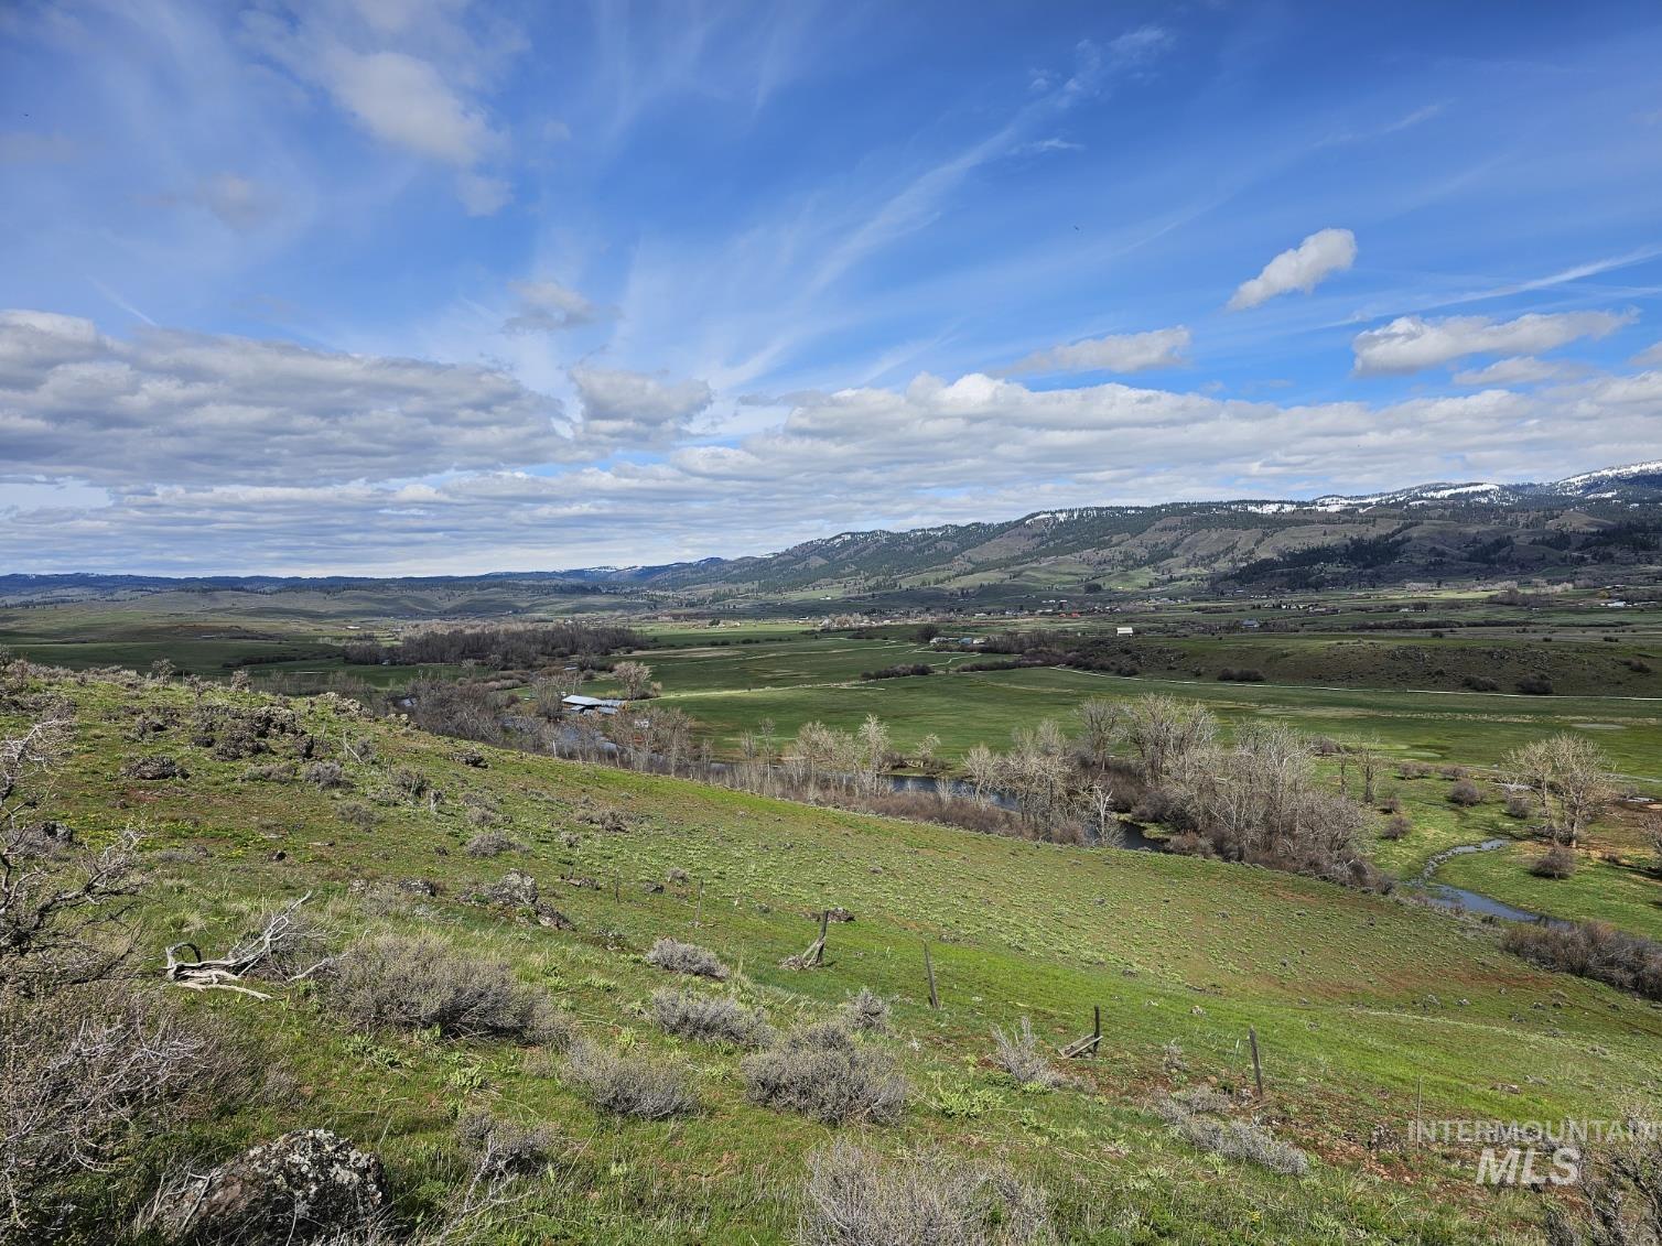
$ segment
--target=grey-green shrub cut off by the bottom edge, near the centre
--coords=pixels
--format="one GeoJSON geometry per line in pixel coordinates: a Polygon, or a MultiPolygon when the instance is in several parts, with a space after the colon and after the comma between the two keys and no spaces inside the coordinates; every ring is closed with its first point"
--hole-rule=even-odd
{"type": "Polygon", "coordinates": [[[924,1150],[886,1161],[848,1140],[808,1158],[801,1246],[1029,1246],[1052,1241],[1045,1198],[997,1165],[924,1150]]]}

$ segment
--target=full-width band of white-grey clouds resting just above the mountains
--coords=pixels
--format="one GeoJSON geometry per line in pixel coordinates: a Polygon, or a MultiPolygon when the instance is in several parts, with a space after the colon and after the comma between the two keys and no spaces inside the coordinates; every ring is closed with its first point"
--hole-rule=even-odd
{"type": "Polygon", "coordinates": [[[558,568],[1049,507],[1551,478],[1662,442],[1662,372],[1384,405],[921,374],[774,395],[788,410],[761,432],[683,445],[705,382],[572,382],[562,435],[552,399],[490,369],[8,312],[0,548],[13,570],[558,568]]]}

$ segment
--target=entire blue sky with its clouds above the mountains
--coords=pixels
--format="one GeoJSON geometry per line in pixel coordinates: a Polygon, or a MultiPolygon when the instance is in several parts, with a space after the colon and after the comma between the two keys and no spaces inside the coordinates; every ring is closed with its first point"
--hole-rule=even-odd
{"type": "Polygon", "coordinates": [[[0,5],[0,571],[1662,457],[1662,8],[0,5]]]}

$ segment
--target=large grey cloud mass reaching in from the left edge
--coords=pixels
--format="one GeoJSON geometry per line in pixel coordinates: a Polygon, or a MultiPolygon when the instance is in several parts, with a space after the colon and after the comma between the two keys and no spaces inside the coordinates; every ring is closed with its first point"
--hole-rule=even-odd
{"type": "Polygon", "coordinates": [[[394,480],[568,459],[505,372],[0,312],[0,475],[108,487],[394,480]]]}

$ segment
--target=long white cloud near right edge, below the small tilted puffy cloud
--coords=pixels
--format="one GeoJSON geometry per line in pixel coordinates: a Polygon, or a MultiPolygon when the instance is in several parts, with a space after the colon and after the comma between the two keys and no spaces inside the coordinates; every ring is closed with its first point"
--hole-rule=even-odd
{"type": "Polygon", "coordinates": [[[1426,321],[1399,316],[1379,329],[1356,334],[1351,351],[1358,375],[1419,372],[1466,356],[1531,356],[1574,342],[1577,337],[1605,337],[1637,312],[1529,312],[1516,321],[1486,316],[1449,316],[1426,321]]]}

